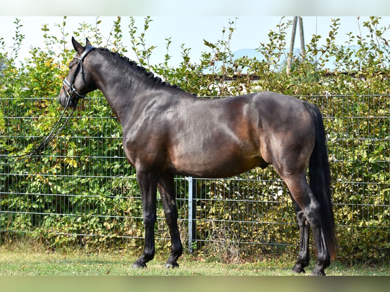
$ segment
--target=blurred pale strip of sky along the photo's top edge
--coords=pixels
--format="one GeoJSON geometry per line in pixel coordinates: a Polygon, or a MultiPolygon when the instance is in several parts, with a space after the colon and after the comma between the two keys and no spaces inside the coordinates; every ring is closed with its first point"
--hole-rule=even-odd
{"type": "Polygon", "coordinates": [[[12,0],[0,15],[378,15],[388,0],[12,0]]]}

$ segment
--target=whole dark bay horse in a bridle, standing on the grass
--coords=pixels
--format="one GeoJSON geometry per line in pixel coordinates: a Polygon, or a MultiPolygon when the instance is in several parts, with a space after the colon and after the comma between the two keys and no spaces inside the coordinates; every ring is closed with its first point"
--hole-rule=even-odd
{"type": "Polygon", "coordinates": [[[140,186],[145,242],[132,268],[145,268],[155,254],[159,191],[171,237],[165,268],[175,268],[183,247],[178,230],[174,176],[226,178],[272,165],[284,180],[299,225],[293,271],[309,265],[309,228],[316,251],[313,275],[325,275],[335,259],[335,220],[322,114],[316,105],[274,92],[202,99],[164,82],[144,67],[86,38],[76,51],[59,92],[75,107],[99,89],[122,126],[127,161],[140,186]],[[308,183],[308,167],[309,181],[308,183]]]}

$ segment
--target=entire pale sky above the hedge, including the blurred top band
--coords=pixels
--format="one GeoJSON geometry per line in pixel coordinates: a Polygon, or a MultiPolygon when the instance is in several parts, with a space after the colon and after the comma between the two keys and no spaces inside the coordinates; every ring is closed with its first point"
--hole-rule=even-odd
{"type": "MultiPolygon", "coordinates": [[[[108,37],[116,19],[115,15],[131,15],[136,19],[136,26],[142,28],[144,17],[150,15],[152,22],[146,34],[147,45],[156,46],[151,63],[159,64],[164,61],[165,39],[171,38],[171,66],[181,62],[181,48],[191,48],[191,61],[197,62],[203,51],[207,50],[203,40],[216,42],[222,38],[222,29],[234,20],[236,30],[230,43],[231,50],[256,49],[260,43],[268,42],[268,33],[275,31],[282,15],[303,15],[303,30],[305,42],[312,35],[320,35],[323,43],[329,32],[332,18],[340,18],[339,33],[336,43],[344,45],[346,34],[359,34],[356,15],[381,15],[388,9],[388,0],[12,0],[0,4],[0,39],[7,45],[12,45],[15,33],[15,15],[21,19],[21,33],[25,35],[19,51],[20,58],[29,56],[31,47],[43,47],[43,24],[48,24],[51,32],[59,32],[55,23],[67,18],[66,30],[70,38],[80,22],[94,24],[96,15],[101,15],[100,30],[108,37]],[[104,15],[104,16],[103,16],[104,15]],[[330,16],[342,15],[342,16],[330,16]],[[235,17],[238,17],[235,20],[235,17]]],[[[292,20],[287,16],[283,21],[292,20]]],[[[360,27],[368,17],[360,17],[360,27]]],[[[130,52],[128,34],[129,17],[122,17],[124,43],[129,52],[125,55],[134,60],[130,52]]],[[[385,16],[380,21],[381,26],[390,25],[390,17],[385,16]]],[[[141,33],[141,32],[140,32],[141,33]]],[[[365,33],[365,32],[364,32],[365,33]]],[[[299,30],[295,47],[299,47],[299,30]]],[[[389,33],[384,35],[390,39],[389,33]]],[[[291,38],[291,29],[287,36],[291,38]]],[[[91,39],[92,40],[92,39],[91,39]]],[[[81,43],[84,40],[79,39],[81,43]]],[[[320,42],[321,44],[321,42],[320,42]]]]}

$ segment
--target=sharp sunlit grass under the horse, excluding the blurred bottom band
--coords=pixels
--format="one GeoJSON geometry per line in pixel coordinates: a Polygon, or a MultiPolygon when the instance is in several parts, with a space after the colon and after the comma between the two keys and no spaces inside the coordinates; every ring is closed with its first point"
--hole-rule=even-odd
{"type": "MultiPolygon", "coordinates": [[[[292,276],[294,265],[283,259],[227,264],[212,258],[184,254],[178,269],[165,269],[165,257],[157,254],[147,269],[132,269],[135,255],[84,254],[80,251],[45,252],[31,248],[0,248],[0,276],[292,276]]],[[[310,272],[314,263],[307,268],[310,272]]],[[[346,266],[333,262],[326,269],[332,276],[390,275],[390,266],[346,266]]]]}

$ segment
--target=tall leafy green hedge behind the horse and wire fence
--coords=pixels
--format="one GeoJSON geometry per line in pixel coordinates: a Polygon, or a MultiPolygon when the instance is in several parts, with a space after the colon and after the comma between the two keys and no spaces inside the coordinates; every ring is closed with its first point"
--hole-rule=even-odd
{"type": "MultiPolygon", "coordinates": [[[[18,57],[18,50],[24,45],[20,20],[15,20],[11,49],[0,39],[2,162],[7,161],[5,156],[33,149],[41,141],[41,133],[48,133],[59,118],[62,109],[53,97],[57,96],[73,57],[68,49],[71,35],[66,33],[66,21],[64,18],[54,30],[44,25],[46,47],[31,48],[30,56],[23,61],[18,57]],[[59,48],[61,53],[56,54],[59,48]]],[[[270,31],[269,42],[259,45],[262,60],[233,58],[229,42],[234,37],[236,21],[239,19],[224,28],[221,40],[204,42],[205,51],[199,61],[190,60],[190,48],[182,45],[182,62],[172,67],[171,39],[166,39],[164,60],[150,64],[154,46],[145,43],[145,35],[153,25],[152,19],[145,18],[140,30],[131,18],[130,49],[147,70],[198,96],[270,90],[318,104],[328,135],[338,256],[353,261],[388,259],[390,54],[383,39],[388,27],[380,26],[380,18],[375,17],[358,23],[357,33],[351,32],[349,43],[341,48],[335,44],[339,20],[330,20],[328,36],[313,36],[306,45],[305,56],[295,55],[292,70],[287,74],[283,60],[288,54],[286,35],[291,21],[282,18],[270,31]],[[348,46],[352,44],[355,46],[348,46]],[[325,68],[330,58],[336,60],[334,72],[325,68]],[[253,75],[260,79],[253,80],[253,75]],[[235,80],[227,84],[226,78],[233,76],[235,80]]],[[[104,37],[109,39],[109,49],[126,55],[121,18],[113,23],[109,38],[100,34],[99,25],[99,19],[93,24],[82,23],[72,35],[81,42],[81,36],[86,35],[97,45],[102,44],[104,37]]],[[[90,94],[80,103],[75,118],[41,156],[13,166],[0,166],[2,239],[26,232],[22,234],[52,248],[69,244],[91,250],[113,246],[140,248],[141,200],[134,170],[124,158],[120,125],[100,92],[90,94]]],[[[194,247],[198,252],[224,253],[230,258],[259,258],[290,250],[295,256],[297,225],[287,191],[281,191],[283,183],[272,168],[255,169],[240,178],[240,182],[199,182],[194,247]],[[228,199],[219,200],[226,194],[228,199]],[[208,217],[202,217],[203,214],[208,217]],[[249,226],[252,221],[255,227],[249,226]],[[227,236],[220,247],[212,244],[223,235],[227,236]],[[248,254],[246,242],[262,245],[259,251],[248,254]]],[[[184,181],[178,180],[177,191],[180,218],[184,219],[184,181]]],[[[163,240],[157,241],[157,247],[163,248],[170,243],[166,240],[169,233],[160,205],[158,218],[157,238],[163,240]]],[[[186,226],[180,220],[183,240],[187,237],[186,226]]]]}

